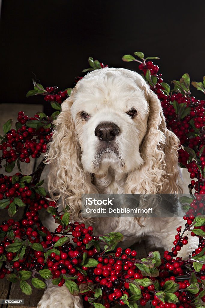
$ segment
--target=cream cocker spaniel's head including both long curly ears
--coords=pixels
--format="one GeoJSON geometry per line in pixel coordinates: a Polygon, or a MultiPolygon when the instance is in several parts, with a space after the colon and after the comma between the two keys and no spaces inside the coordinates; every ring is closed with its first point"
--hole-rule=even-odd
{"type": "Polygon", "coordinates": [[[81,79],[62,103],[46,154],[49,190],[77,213],[90,174],[127,175],[125,193],[174,193],[178,138],[166,128],[157,96],[134,71],[103,68],[81,79]]]}

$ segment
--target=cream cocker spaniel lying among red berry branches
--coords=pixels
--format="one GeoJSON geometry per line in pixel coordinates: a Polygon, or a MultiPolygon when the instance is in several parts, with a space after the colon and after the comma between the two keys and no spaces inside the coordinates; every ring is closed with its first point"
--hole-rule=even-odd
{"type": "MultiPolygon", "coordinates": [[[[143,77],[123,68],[91,71],[62,103],[46,161],[53,200],[79,221],[81,195],[182,193],[179,139],[166,127],[157,95],[143,77]]],[[[143,236],[171,249],[183,218],[98,218],[94,234],[120,232],[122,248],[143,236]],[[162,234],[165,234],[163,237],[162,234]]],[[[49,229],[51,225],[49,225],[49,229]]],[[[56,226],[53,226],[55,229],[56,226]]],[[[182,256],[194,249],[193,241],[182,256]]],[[[82,307],[80,296],[49,283],[38,308],[82,307]]]]}

